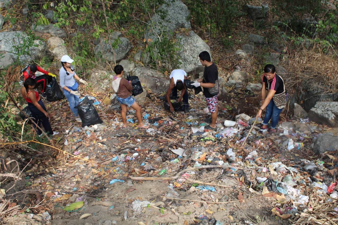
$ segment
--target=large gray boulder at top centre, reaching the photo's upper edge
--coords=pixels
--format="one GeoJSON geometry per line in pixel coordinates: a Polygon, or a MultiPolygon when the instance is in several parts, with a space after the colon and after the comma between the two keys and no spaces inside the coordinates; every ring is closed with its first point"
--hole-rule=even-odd
{"type": "Polygon", "coordinates": [[[161,34],[169,34],[178,28],[191,28],[188,7],[180,0],[166,0],[148,21],[145,39],[156,41],[161,34]]]}

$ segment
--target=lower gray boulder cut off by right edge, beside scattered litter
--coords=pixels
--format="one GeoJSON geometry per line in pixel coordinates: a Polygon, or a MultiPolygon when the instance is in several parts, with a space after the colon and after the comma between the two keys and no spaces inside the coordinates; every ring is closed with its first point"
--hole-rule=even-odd
{"type": "Polygon", "coordinates": [[[338,150],[338,137],[328,133],[319,134],[313,146],[316,154],[338,150]]]}

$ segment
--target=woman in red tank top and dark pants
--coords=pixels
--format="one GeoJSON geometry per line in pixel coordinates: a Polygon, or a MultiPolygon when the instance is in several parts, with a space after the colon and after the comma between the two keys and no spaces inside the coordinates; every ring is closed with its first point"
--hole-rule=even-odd
{"type": "MultiPolygon", "coordinates": [[[[28,103],[29,110],[32,113],[33,121],[41,127],[41,124],[45,128],[45,131],[51,135],[57,134],[53,132],[52,127],[49,123],[49,114],[47,109],[41,99],[39,98],[39,93],[34,90],[37,82],[32,78],[27,78],[24,82],[24,86],[21,87],[21,94],[26,99],[28,103]]],[[[33,124],[34,129],[36,129],[35,124],[33,124]]],[[[38,135],[42,135],[40,129],[36,129],[38,135]]]]}

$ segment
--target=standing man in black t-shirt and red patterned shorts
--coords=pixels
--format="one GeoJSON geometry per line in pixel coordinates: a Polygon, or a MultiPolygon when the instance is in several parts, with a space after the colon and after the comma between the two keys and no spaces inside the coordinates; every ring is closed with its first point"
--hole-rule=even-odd
{"type": "Polygon", "coordinates": [[[217,66],[211,61],[209,52],[203,51],[198,55],[199,61],[204,66],[203,79],[196,80],[195,83],[192,83],[195,87],[203,87],[203,94],[207,101],[208,109],[211,113],[211,124],[207,126],[208,129],[216,129],[216,120],[218,114],[218,94],[210,94],[209,88],[215,86],[215,82],[218,80],[218,70],[217,66]]]}

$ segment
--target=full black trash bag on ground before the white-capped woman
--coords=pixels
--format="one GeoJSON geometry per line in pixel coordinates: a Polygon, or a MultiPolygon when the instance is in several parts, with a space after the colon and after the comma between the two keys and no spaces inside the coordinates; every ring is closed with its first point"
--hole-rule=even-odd
{"type": "Polygon", "coordinates": [[[87,96],[75,108],[77,108],[77,112],[82,120],[82,127],[103,123],[96,108],[87,96]]]}

